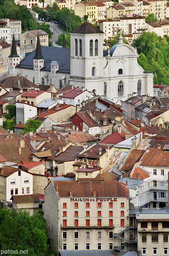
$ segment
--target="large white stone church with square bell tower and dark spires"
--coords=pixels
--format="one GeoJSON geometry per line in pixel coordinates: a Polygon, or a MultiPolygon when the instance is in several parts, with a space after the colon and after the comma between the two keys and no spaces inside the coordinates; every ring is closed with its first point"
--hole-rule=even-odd
{"type": "Polygon", "coordinates": [[[103,34],[85,22],[70,32],[71,48],[40,46],[38,36],[36,50],[21,61],[12,43],[10,76],[24,76],[35,84],[54,84],[56,88],[69,83],[116,104],[133,92],[153,96],[153,73],[139,66],[135,48],[124,44],[120,36],[110,51],[103,50],[103,34]]]}

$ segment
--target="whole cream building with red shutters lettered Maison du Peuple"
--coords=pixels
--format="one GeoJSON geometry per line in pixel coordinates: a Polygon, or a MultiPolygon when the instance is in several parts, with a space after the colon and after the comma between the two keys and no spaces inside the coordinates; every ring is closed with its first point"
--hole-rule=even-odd
{"type": "Polygon", "coordinates": [[[52,180],[45,188],[52,248],[127,251],[128,189],[115,180],[83,180],[52,180]]]}

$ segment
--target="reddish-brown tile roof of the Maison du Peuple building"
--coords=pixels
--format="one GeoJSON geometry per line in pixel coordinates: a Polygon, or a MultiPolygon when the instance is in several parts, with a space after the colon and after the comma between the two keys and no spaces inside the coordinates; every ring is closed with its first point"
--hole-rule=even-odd
{"type": "MultiPolygon", "coordinates": [[[[58,185],[59,197],[70,198],[70,189],[75,197],[92,197],[96,189],[96,197],[128,197],[128,188],[116,180],[100,182],[78,182],[76,180],[51,181],[55,187],[58,185]],[[112,189],[113,188],[113,189],[112,189]]],[[[45,188],[46,189],[46,188],[45,188]]],[[[116,204],[116,202],[115,202],[116,204]]]]}

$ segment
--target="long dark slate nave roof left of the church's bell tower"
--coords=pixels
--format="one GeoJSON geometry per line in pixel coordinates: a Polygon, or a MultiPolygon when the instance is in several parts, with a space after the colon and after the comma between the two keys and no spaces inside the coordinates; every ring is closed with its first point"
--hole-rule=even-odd
{"type": "MultiPolygon", "coordinates": [[[[41,46],[41,53],[44,58],[44,67],[41,71],[51,71],[51,62],[57,61],[59,64],[58,73],[70,74],[70,48],[41,46]]],[[[16,68],[26,68],[33,70],[33,57],[35,56],[35,50],[30,52],[16,68]]]]}

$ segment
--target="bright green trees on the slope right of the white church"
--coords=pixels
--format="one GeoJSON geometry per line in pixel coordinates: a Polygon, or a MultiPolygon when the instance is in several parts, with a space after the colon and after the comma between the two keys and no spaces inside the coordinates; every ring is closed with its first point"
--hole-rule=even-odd
{"type": "Polygon", "coordinates": [[[169,84],[169,36],[157,36],[154,32],[143,32],[132,44],[140,57],[138,64],[153,72],[155,84],[169,84]]]}

